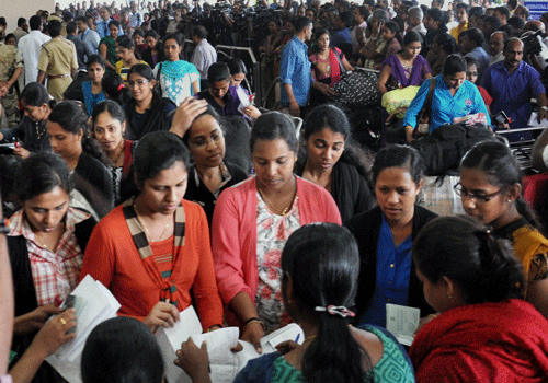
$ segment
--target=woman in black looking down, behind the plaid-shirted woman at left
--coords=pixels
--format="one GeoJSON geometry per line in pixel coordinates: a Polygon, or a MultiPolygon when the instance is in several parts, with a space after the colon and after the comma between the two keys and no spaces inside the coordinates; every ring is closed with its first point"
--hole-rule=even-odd
{"type": "Polygon", "coordinates": [[[88,116],[73,101],[57,104],[47,121],[47,134],[52,150],[59,154],[71,172],[75,190],[83,198],[75,202],[84,204],[89,211],[103,218],[113,206],[112,182],[104,166],[104,154],[96,142],[88,136],[88,116]]]}

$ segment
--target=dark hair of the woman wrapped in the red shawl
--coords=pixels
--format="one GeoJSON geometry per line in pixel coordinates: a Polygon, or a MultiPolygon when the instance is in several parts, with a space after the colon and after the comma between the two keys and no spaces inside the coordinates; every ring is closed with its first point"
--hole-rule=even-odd
{"type": "Polygon", "coordinates": [[[472,217],[439,217],[413,243],[416,269],[432,283],[447,277],[469,304],[524,298],[523,266],[510,241],[490,234],[472,217]]]}

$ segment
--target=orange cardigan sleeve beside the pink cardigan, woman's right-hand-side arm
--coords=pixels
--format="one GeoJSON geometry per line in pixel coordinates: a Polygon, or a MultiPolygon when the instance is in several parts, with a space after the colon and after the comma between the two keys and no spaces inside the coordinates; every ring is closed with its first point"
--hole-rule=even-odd
{"type": "Polygon", "coordinates": [[[199,206],[194,207],[193,214],[196,230],[196,252],[199,254],[199,263],[194,278],[192,292],[196,302],[202,327],[206,332],[213,325],[222,325],[222,303],[220,301],[217,283],[215,281],[215,269],[213,266],[212,247],[209,245],[209,227],[207,219],[199,206]]]}

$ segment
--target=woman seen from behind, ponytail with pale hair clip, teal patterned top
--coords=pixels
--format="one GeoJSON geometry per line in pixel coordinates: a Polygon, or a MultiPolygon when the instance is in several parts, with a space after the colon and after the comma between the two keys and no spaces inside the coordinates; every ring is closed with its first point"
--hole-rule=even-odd
{"type": "MultiPolygon", "coordinates": [[[[346,307],[356,295],[359,256],[347,230],[333,223],[297,229],[282,253],[282,270],[284,304],[302,326],[304,343],[290,343],[285,355],[251,360],[235,382],[414,382],[406,351],[389,333],[349,324],[353,313],[346,307]]],[[[186,350],[201,352],[191,341],[182,349],[175,363],[190,364],[186,371],[196,376],[191,370],[202,367],[205,358],[191,359],[186,350]]]]}

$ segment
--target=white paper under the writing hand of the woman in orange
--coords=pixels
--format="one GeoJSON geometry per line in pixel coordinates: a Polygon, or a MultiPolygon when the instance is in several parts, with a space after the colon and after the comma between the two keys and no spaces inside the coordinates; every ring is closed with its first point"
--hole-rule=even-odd
{"type": "Polygon", "coordinates": [[[181,349],[183,341],[189,340],[189,337],[193,335],[202,334],[202,324],[193,306],[189,306],[189,309],[182,311],[179,317],[180,321],[173,327],[160,327],[156,332],[156,339],[162,350],[168,382],[192,383],[191,378],[181,368],[173,364],[173,361],[176,359],[175,352],[181,349]]]}

